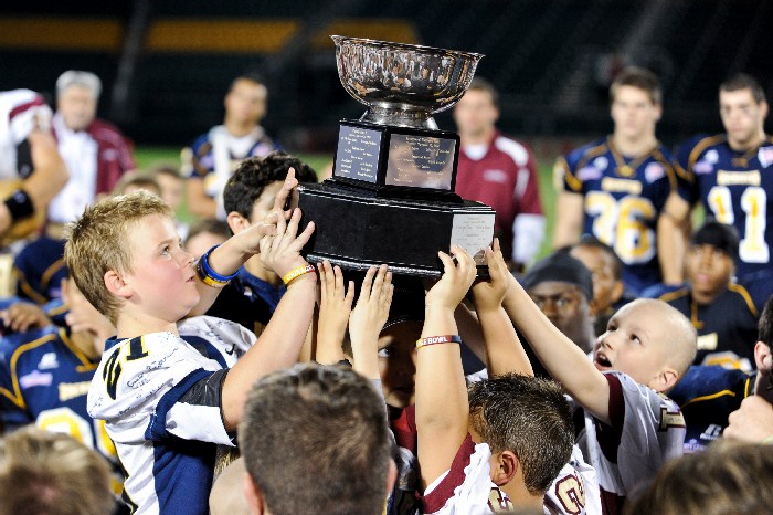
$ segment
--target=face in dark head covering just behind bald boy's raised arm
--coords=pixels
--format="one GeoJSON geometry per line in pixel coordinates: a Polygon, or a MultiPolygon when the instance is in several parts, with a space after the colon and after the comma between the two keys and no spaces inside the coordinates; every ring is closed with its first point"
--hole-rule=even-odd
{"type": "Polygon", "coordinates": [[[544,316],[584,351],[593,347],[593,325],[587,298],[579,286],[560,281],[544,281],[528,291],[544,316]]]}

